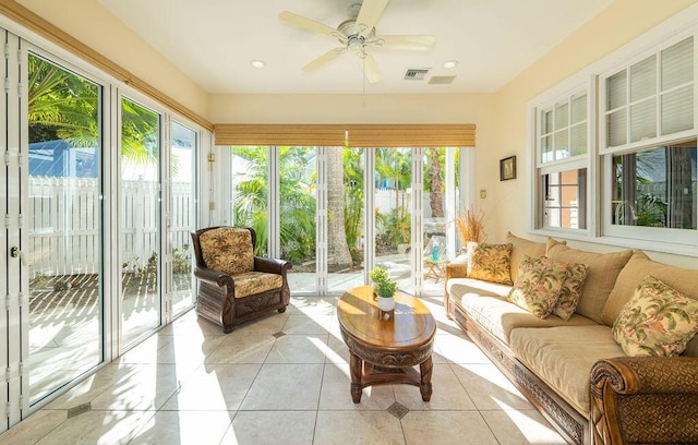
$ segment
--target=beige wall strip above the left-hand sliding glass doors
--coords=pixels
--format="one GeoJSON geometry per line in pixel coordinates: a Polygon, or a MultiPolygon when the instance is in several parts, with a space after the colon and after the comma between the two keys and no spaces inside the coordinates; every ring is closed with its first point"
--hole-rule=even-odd
{"type": "Polygon", "coordinates": [[[97,0],[16,1],[192,111],[208,117],[208,94],[97,0]]]}

